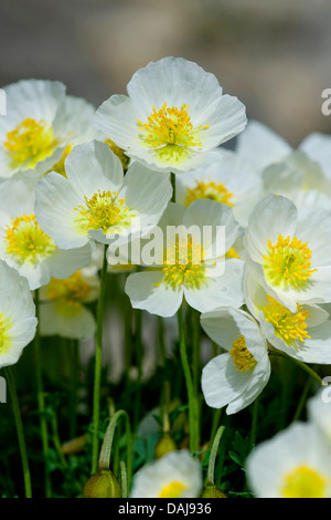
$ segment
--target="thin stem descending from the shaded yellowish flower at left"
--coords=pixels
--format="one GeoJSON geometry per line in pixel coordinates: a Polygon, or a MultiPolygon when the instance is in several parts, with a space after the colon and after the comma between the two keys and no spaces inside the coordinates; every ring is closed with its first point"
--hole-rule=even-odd
{"type": "Polygon", "coordinates": [[[34,293],[35,302],[35,315],[38,319],[36,332],[34,336],[34,363],[35,363],[35,375],[36,375],[36,396],[38,396],[38,409],[40,414],[40,430],[43,446],[43,457],[45,464],[45,496],[46,498],[52,497],[52,483],[50,475],[50,440],[47,420],[45,415],[45,398],[42,378],[42,362],[41,362],[41,337],[40,337],[40,301],[39,301],[39,289],[34,293]]]}

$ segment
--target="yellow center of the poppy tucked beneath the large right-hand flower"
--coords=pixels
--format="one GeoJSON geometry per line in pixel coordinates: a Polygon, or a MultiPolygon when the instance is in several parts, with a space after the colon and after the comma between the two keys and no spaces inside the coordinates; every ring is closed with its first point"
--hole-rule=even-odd
{"type": "Polygon", "coordinates": [[[263,308],[265,320],[275,327],[278,337],[285,341],[289,346],[296,340],[305,341],[310,335],[307,332],[306,320],[309,318],[309,311],[302,311],[302,306],[297,304],[297,312],[292,313],[284,305],[277,302],[273,297],[267,297],[268,303],[263,308]]]}

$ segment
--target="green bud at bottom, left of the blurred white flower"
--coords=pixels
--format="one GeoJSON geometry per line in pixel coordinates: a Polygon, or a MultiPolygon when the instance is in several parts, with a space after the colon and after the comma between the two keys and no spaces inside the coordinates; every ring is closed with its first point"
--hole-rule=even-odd
{"type": "Polygon", "coordinates": [[[121,498],[121,487],[109,469],[93,475],[84,486],[84,498],[121,498]]]}

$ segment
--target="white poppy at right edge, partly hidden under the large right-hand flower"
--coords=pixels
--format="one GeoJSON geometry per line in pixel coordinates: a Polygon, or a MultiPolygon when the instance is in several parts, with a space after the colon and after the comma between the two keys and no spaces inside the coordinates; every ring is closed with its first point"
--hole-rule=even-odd
{"type": "Polygon", "coordinates": [[[331,320],[324,309],[297,303],[291,312],[277,301],[274,291],[266,292],[249,261],[245,266],[244,288],[247,306],[271,345],[305,363],[331,363],[331,320]]]}

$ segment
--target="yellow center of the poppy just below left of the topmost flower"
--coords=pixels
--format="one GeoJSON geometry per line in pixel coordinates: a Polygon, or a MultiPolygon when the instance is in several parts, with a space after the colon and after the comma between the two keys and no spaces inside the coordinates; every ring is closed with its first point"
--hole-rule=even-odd
{"type": "Polygon", "coordinates": [[[89,229],[102,229],[105,233],[109,228],[120,225],[128,227],[135,217],[129,208],[125,207],[125,199],[118,198],[116,191],[98,190],[89,199],[85,198],[86,207],[78,206],[76,222],[86,231],[89,229]]]}

